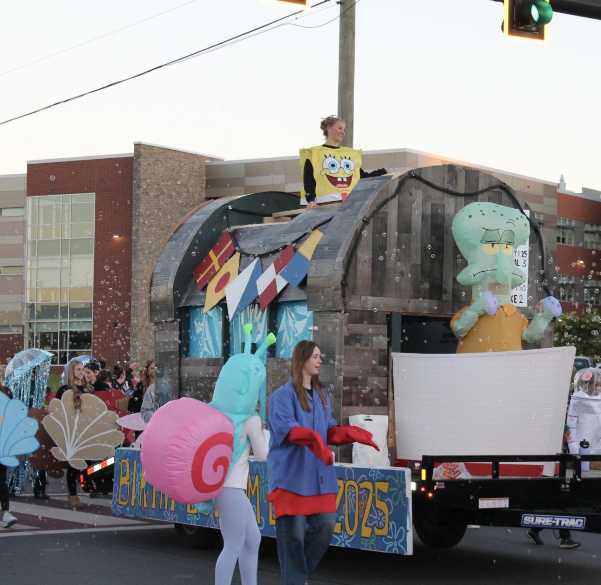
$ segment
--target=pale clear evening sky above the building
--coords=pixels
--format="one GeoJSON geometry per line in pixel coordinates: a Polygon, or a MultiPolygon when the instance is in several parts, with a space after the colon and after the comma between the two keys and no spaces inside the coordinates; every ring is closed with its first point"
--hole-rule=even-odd
{"type": "MultiPolygon", "coordinates": [[[[28,160],[132,153],[134,142],[226,160],[320,144],[320,120],[337,109],[339,10],[330,0],[2,124],[0,175],[25,173],[28,160]]],[[[4,0],[0,122],[294,11],[261,0],[4,0]]],[[[563,174],[569,190],[601,190],[601,20],[556,13],[539,46],[505,40],[502,14],[490,0],[359,0],[355,147],[411,148],[554,183],[563,174]]]]}

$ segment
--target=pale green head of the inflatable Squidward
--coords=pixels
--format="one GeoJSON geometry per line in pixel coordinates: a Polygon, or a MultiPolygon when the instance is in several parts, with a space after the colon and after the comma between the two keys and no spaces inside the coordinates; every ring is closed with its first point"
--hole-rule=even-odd
{"type": "Polygon", "coordinates": [[[468,261],[457,282],[472,285],[474,294],[484,290],[508,294],[525,282],[525,274],[514,262],[514,247],[528,240],[530,226],[519,210],[495,203],[470,203],[457,212],[452,229],[457,247],[468,261]]]}

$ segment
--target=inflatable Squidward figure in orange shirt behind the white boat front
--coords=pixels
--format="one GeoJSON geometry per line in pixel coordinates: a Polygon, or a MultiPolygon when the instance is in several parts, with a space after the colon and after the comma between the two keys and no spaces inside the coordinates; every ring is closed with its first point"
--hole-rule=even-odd
{"type": "Polygon", "coordinates": [[[528,240],[528,218],[511,207],[478,201],[455,214],[451,229],[468,261],[457,282],[472,286],[473,299],[451,320],[457,353],[521,350],[522,341],[540,339],[552,318],[561,315],[558,300],[543,299],[530,324],[511,303],[511,289],[526,280],[515,265],[514,247],[528,240]]]}

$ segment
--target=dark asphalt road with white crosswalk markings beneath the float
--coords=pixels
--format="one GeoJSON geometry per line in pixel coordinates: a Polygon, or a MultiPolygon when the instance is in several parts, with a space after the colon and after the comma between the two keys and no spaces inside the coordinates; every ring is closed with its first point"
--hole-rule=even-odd
{"type": "MultiPolygon", "coordinates": [[[[182,548],[168,524],[112,517],[108,497],[83,496],[88,508],[72,511],[66,496],[58,490],[49,493],[47,502],[23,496],[11,501],[19,524],[0,529],[2,583],[213,583],[218,550],[182,548]]],[[[484,527],[468,530],[459,545],[447,550],[427,549],[416,538],[410,557],[331,548],[310,583],[597,585],[601,535],[574,536],[582,541],[576,550],[558,548],[550,530],[542,533],[545,546],[536,547],[525,530],[484,527]]],[[[266,541],[258,583],[279,585],[274,542],[266,541]]],[[[240,583],[237,573],[233,583],[240,583]]]]}

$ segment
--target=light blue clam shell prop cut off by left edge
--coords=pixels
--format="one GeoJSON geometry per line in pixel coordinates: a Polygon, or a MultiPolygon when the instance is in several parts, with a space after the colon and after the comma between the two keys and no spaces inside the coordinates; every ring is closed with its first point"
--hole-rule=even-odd
{"type": "Polygon", "coordinates": [[[0,392],[0,463],[6,467],[17,467],[16,455],[26,455],[40,446],[35,433],[37,420],[27,416],[23,402],[10,399],[0,392]]]}

